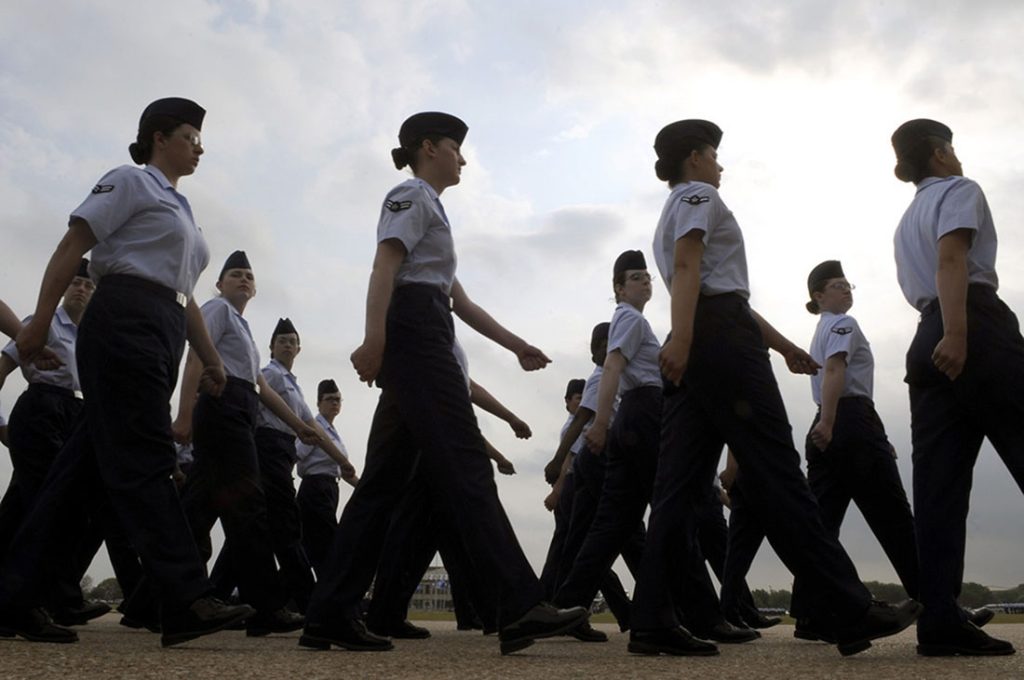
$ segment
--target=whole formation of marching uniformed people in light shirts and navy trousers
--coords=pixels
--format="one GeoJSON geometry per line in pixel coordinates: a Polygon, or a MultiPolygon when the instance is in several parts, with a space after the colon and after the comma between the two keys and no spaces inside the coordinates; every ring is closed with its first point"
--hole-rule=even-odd
{"type": "Polygon", "coordinates": [[[14,473],[0,505],[0,636],[77,641],[72,627],[109,610],[78,587],[105,542],[126,595],[122,624],[159,632],[165,646],[238,626],[254,637],[302,629],[299,644],[313,649],[429,637],[407,610],[439,551],[458,626],[498,633],[503,654],[556,635],[607,641],[589,623],[600,591],[630,631],[629,651],[713,655],[779,623],[744,581],[767,537],[796,580],[799,638],[848,655],[918,622],[921,654],[1014,652],[981,630],[992,612],[963,609],[956,596],[983,437],[1024,485],[1024,403],[1010,396],[1024,339],[995,293],[987,203],[945,125],[908,121],[892,137],[897,177],[918,186],[896,232],[900,287],[922,312],[907,360],[913,510],[841,262],[810,270],[806,306],[820,321],[805,351],[751,309],[742,231],[719,194],[722,130],[687,119],[654,141],[670,194],[652,250],[671,333],[663,341],[643,315],[653,294],[643,252],[623,252],[614,312],[591,337],[594,372],[567,385],[569,418],[545,469],[555,533],[538,578],[495,484],[495,464],[514,467],[482,437],[473,407],[519,437],[531,432],[472,380],[453,314],[523,370],[550,359],[456,273],[440,195],[460,181],[466,124],[417,114],[391,152],[413,177],[382,204],[366,335],[350,357],[381,387],[356,475],[334,427],[337,383],[319,382],[314,415],[292,373],[301,341],[290,320],[261,368],[245,318],[257,288],[246,253],[224,261],[217,297],[194,299],[210,253],[177,185],[203,155],[205,114],[188,99],[151,103],[129,147],[135,165],[106,173],[72,212],[35,313],[23,321],[0,305],[0,331],[13,338],[0,385],[18,367],[29,383],[5,442],[14,473]],[[806,477],[766,347],[811,376],[806,477]],[[336,521],[340,481],[353,492],[336,521]],[[860,582],[838,540],[851,501],[911,599],[879,602],[860,582]],[[218,520],[225,540],[210,565],[218,520]],[[636,579],[632,601],[611,569],[620,555],[636,579]]]}

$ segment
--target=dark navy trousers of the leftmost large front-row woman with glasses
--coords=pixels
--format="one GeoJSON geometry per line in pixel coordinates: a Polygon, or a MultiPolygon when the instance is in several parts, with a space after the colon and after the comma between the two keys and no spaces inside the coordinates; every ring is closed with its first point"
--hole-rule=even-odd
{"type": "Polygon", "coordinates": [[[106,277],[78,331],[85,417],[61,449],[0,576],[0,607],[35,606],[73,540],[65,519],[105,490],[118,520],[159,589],[165,611],[209,592],[171,479],[169,403],[185,341],[184,309],[167,289],[106,277]]]}

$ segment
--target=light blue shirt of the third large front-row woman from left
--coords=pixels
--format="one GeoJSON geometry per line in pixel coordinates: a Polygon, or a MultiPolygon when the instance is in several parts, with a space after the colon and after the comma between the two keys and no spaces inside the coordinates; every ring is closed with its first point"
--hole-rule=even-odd
{"type": "Polygon", "coordinates": [[[672,291],[675,271],[676,241],[694,230],[703,233],[700,293],[738,293],[750,298],[743,232],[718,189],[698,181],[682,182],[673,187],[654,231],[654,261],[669,291],[672,291]]]}

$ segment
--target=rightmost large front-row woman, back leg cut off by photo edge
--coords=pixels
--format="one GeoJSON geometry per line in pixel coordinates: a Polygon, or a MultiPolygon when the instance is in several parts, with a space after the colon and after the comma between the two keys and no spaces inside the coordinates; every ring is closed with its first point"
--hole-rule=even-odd
{"type": "Polygon", "coordinates": [[[995,294],[995,224],[981,187],[964,177],[952,131],[907,121],[892,136],[896,177],[918,189],[896,229],[896,273],[921,311],[906,354],[913,507],[925,613],[924,655],[1011,654],[956,604],[964,578],[971,472],[988,437],[1024,490],[1024,339],[995,294]]]}

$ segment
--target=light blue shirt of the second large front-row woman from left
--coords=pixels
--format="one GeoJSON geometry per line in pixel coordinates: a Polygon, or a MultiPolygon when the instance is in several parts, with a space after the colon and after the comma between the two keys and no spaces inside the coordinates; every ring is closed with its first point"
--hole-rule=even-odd
{"type": "Polygon", "coordinates": [[[377,243],[387,239],[397,239],[406,247],[395,286],[426,284],[451,295],[455,242],[444,208],[430,184],[414,177],[388,193],[377,224],[377,243]]]}

